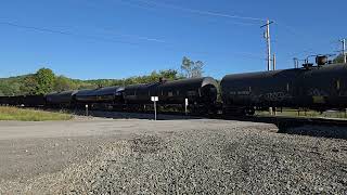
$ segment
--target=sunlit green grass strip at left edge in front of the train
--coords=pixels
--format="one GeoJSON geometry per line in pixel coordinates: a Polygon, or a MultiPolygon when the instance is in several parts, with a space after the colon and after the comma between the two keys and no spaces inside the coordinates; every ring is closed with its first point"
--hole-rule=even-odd
{"type": "Polygon", "coordinates": [[[0,120],[49,121],[69,120],[73,116],[64,113],[52,113],[29,108],[0,106],[0,120]]]}

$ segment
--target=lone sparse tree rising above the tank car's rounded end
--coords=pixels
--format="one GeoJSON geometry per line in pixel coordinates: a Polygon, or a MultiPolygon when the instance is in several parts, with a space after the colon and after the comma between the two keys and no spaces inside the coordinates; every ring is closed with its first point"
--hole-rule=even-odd
{"type": "Polygon", "coordinates": [[[191,61],[187,56],[182,60],[181,69],[185,72],[185,77],[197,78],[203,76],[204,63],[202,61],[191,61]]]}

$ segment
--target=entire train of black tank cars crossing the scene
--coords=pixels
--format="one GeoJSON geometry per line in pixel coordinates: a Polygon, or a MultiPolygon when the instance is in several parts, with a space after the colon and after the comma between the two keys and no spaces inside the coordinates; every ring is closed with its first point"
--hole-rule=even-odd
{"type": "Polygon", "coordinates": [[[64,91],[47,95],[0,96],[0,104],[46,107],[107,107],[117,110],[153,109],[158,96],[163,110],[253,115],[269,107],[304,107],[317,110],[347,107],[347,64],[332,64],[318,56],[317,65],[301,68],[227,75],[220,84],[211,77],[160,80],[155,83],[64,91]],[[218,90],[220,89],[220,90],[218,90]],[[217,101],[220,91],[221,102],[217,101]]]}

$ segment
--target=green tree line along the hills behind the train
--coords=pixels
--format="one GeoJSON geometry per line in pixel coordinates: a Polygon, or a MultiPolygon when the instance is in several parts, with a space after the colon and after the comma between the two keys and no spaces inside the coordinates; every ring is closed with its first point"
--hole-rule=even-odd
{"type": "Polygon", "coordinates": [[[203,76],[202,61],[192,61],[183,57],[180,65],[181,73],[176,69],[152,72],[145,76],[134,76],[125,79],[95,79],[79,80],[65,76],[57,76],[49,68],[40,68],[35,74],[0,79],[0,95],[35,95],[62,92],[68,90],[97,89],[111,86],[129,86],[137,83],[156,82],[160,78],[177,80],[203,76]]]}

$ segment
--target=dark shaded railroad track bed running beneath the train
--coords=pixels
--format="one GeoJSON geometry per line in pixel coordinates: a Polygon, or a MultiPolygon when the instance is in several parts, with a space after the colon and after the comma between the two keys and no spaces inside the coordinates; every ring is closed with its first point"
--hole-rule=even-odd
{"type": "MultiPolygon", "coordinates": [[[[50,109],[57,110],[57,109],[50,109]]],[[[85,110],[69,109],[72,114],[85,116],[85,110]]],[[[90,110],[90,116],[104,118],[154,118],[153,112],[120,112],[120,110],[90,110]]],[[[347,140],[347,120],[333,118],[304,118],[304,117],[285,117],[285,116],[223,116],[221,114],[214,116],[189,115],[174,112],[160,112],[159,120],[176,120],[176,119],[201,119],[210,118],[218,120],[237,120],[273,123],[278,127],[279,133],[323,136],[332,139],[347,140]],[[303,128],[301,128],[303,127],[303,128]]]]}

